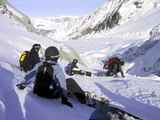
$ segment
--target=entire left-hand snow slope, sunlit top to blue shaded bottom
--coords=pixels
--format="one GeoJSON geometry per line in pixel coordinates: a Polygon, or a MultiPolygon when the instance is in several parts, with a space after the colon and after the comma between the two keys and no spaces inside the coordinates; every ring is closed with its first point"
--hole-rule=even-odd
{"type": "Polygon", "coordinates": [[[14,64],[18,64],[20,51],[29,49],[33,43],[37,42],[44,48],[49,45],[57,47],[61,45],[45,37],[26,32],[14,24],[13,19],[4,15],[0,15],[0,20],[0,119],[52,120],[57,118],[63,120],[65,117],[70,120],[87,120],[93,109],[77,102],[73,101],[75,108],[70,109],[61,105],[59,100],[43,100],[28,94],[30,92],[16,90],[15,84],[23,80],[23,73],[14,67],[14,64]]]}

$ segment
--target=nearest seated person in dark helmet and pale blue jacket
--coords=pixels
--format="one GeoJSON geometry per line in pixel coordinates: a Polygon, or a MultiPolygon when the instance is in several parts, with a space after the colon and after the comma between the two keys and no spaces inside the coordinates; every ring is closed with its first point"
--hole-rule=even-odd
{"type": "Polygon", "coordinates": [[[48,47],[45,51],[45,61],[29,72],[25,77],[26,80],[18,84],[17,87],[24,89],[34,80],[34,94],[50,99],[61,98],[62,104],[73,107],[63,90],[63,88],[66,89],[66,80],[62,68],[58,64],[59,57],[59,51],[56,47],[48,47]]]}

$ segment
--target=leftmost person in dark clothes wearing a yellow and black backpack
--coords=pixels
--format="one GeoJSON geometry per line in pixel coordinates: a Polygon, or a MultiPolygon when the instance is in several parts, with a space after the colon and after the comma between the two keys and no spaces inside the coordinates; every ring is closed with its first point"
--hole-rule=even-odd
{"type": "Polygon", "coordinates": [[[33,44],[30,51],[24,51],[19,59],[20,68],[22,71],[27,72],[35,67],[40,62],[39,50],[40,44],[33,44]]]}

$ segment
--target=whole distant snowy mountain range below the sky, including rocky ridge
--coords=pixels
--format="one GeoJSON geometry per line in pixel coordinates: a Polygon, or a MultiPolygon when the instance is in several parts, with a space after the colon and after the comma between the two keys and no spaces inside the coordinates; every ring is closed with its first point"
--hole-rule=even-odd
{"type": "Polygon", "coordinates": [[[50,37],[61,40],[75,39],[87,34],[109,30],[129,20],[136,21],[149,11],[157,9],[159,4],[159,0],[108,0],[103,6],[87,16],[67,17],[70,18],[67,22],[64,20],[65,17],[34,18],[32,20],[35,27],[49,30],[48,36],[50,37]],[[62,22],[59,23],[59,21],[62,22]],[[60,29],[55,30],[55,26],[59,26],[60,29]],[[70,26],[69,29],[68,26],[70,26]]]}

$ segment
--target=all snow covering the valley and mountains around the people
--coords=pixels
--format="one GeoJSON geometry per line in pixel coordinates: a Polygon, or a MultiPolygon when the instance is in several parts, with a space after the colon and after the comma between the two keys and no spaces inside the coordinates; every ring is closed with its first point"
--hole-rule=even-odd
{"type": "MultiPolygon", "coordinates": [[[[47,26],[46,20],[41,21],[41,18],[38,18],[40,23],[35,22],[34,26],[44,31],[38,31],[32,24],[24,24],[26,22],[23,21],[23,14],[9,7],[11,5],[7,8],[10,8],[9,12],[13,12],[12,14],[9,12],[3,14],[3,8],[0,14],[0,120],[13,120],[13,118],[16,120],[64,120],[64,118],[88,120],[94,110],[74,100],[72,101],[74,108],[70,109],[61,105],[58,100],[38,98],[31,93],[30,87],[24,91],[16,89],[15,85],[24,79],[24,73],[17,68],[19,54],[23,50],[29,50],[33,43],[40,43],[44,49],[50,45],[57,46],[63,59],[60,60],[62,67],[77,57],[82,63],[80,68],[92,72],[102,71],[103,61],[110,56],[122,57],[125,60],[123,68],[125,78],[98,76],[90,78],[73,76],[73,78],[85,91],[105,96],[113,104],[120,105],[144,120],[159,120],[160,78],[157,76],[160,73],[159,0],[138,1],[140,3],[136,1],[138,0],[125,1],[119,9],[120,14],[123,15],[119,25],[111,30],[103,30],[103,32],[87,34],[76,40],[62,42],[35,33],[40,34],[46,30],[52,30],[52,26],[59,26],[59,32],[62,31],[61,33],[64,34],[70,25],[69,21],[72,21],[71,29],[67,33],[73,33],[76,30],[74,35],[78,35],[90,26],[94,28],[104,23],[106,15],[102,13],[105,13],[105,6],[109,3],[104,4],[104,9],[97,9],[91,17],[88,15],[81,19],[78,17],[47,18],[51,27],[47,26]],[[19,17],[17,19],[13,16],[19,17]],[[56,24],[50,23],[51,19],[56,24]],[[74,22],[79,23],[75,28],[74,22]],[[66,24],[64,28],[60,27],[63,23],[66,24]],[[34,28],[31,29],[32,32],[28,32],[30,31],[26,27],[28,25],[34,28]]],[[[116,3],[113,5],[115,8],[119,5],[119,2],[116,3]]],[[[28,21],[29,18],[24,20],[28,21]]],[[[58,37],[55,38],[58,39],[58,37]]]]}

